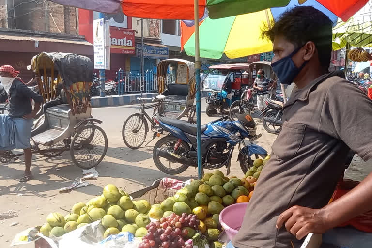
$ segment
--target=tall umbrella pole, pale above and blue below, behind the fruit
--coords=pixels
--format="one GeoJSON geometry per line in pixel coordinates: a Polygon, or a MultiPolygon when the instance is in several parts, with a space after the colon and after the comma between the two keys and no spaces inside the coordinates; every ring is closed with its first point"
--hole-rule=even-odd
{"type": "Polygon", "coordinates": [[[200,93],[200,62],[199,51],[199,0],[194,0],[194,22],[195,22],[195,81],[196,81],[196,136],[197,136],[197,155],[198,155],[198,178],[203,177],[202,165],[202,111],[200,93]]]}

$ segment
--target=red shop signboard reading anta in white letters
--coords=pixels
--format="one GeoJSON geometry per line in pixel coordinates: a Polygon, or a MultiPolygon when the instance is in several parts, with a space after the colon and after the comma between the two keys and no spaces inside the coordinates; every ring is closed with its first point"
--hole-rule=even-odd
{"type": "Polygon", "coordinates": [[[110,27],[111,53],[136,54],[134,30],[110,27]]]}

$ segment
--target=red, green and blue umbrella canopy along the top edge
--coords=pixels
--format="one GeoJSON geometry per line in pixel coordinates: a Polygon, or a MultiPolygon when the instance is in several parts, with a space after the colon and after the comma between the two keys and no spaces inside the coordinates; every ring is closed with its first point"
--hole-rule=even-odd
{"type": "MultiPolygon", "coordinates": [[[[322,11],[329,10],[335,16],[346,21],[367,2],[368,0],[199,0],[198,14],[199,18],[202,18],[205,8],[208,8],[209,17],[218,19],[270,9],[275,18],[283,12],[280,7],[286,9],[294,5],[305,4],[313,5],[322,11]]],[[[121,3],[124,14],[128,16],[155,19],[194,19],[194,0],[122,0],[121,3]]]]}

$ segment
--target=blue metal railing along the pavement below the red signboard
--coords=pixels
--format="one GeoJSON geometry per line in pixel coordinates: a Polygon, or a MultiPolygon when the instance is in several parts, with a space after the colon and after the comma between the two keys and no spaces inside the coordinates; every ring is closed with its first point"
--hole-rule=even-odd
{"type": "MultiPolygon", "coordinates": [[[[167,74],[166,84],[171,82],[170,75],[167,74]]],[[[156,73],[147,71],[145,73],[126,73],[123,69],[118,71],[118,95],[158,92],[156,73]]]]}

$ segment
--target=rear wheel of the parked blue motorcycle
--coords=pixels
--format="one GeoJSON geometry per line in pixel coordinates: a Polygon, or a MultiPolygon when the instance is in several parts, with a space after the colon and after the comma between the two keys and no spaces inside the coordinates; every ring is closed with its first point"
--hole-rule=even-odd
{"type": "Polygon", "coordinates": [[[168,135],[158,140],[153,150],[153,160],[156,167],[160,171],[169,175],[176,175],[186,171],[188,165],[173,162],[165,157],[159,157],[157,155],[157,148],[164,149],[170,153],[174,153],[175,155],[181,155],[182,153],[190,150],[190,146],[185,141],[182,141],[177,151],[174,152],[174,146],[177,142],[178,138],[168,135]]]}

